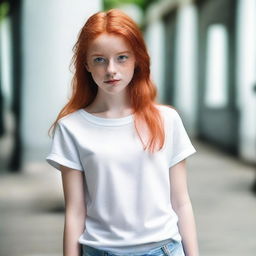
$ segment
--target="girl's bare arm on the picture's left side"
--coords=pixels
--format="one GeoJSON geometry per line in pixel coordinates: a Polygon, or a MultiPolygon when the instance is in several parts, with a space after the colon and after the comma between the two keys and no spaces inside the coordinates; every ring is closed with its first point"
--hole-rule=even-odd
{"type": "Polygon", "coordinates": [[[65,200],[63,256],[81,256],[78,238],[84,231],[86,217],[84,173],[61,166],[61,175],[65,200]]]}

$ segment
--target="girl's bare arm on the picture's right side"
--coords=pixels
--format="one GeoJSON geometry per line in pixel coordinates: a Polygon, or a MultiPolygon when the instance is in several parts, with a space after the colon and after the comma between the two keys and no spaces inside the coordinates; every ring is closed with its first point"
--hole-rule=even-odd
{"type": "Polygon", "coordinates": [[[179,221],[178,228],[186,256],[198,256],[196,225],[187,188],[185,159],[170,167],[171,203],[179,221]]]}

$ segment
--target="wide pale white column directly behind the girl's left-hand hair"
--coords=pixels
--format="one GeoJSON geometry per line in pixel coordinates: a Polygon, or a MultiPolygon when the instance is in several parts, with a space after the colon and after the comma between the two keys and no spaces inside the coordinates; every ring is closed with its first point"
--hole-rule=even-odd
{"type": "Polygon", "coordinates": [[[72,47],[100,0],[24,0],[22,140],[26,159],[44,158],[48,129],[70,93],[72,47]]]}

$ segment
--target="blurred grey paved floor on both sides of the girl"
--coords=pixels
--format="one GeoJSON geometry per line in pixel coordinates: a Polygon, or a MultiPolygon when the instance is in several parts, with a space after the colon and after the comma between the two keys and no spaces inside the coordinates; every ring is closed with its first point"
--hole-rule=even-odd
{"type": "MultiPolygon", "coordinates": [[[[188,158],[188,186],[201,256],[255,256],[253,167],[203,143],[188,158]]],[[[0,256],[61,256],[63,195],[59,171],[27,164],[0,175],[0,256]]]]}

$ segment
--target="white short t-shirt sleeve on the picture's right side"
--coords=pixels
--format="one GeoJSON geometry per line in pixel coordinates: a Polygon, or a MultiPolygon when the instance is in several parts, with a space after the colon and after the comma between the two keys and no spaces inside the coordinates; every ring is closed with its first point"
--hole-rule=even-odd
{"type": "Polygon", "coordinates": [[[170,142],[169,168],[196,152],[176,110],[173,113],[170,142]]]}

